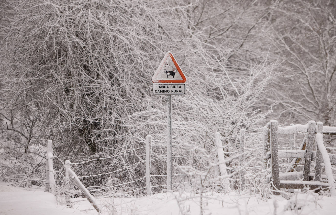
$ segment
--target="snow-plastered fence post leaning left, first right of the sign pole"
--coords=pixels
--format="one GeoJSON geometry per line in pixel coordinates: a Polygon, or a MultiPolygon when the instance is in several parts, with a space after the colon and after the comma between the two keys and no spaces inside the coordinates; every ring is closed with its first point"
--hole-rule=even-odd
{"type": "Polygon", "coordinates": [[[230,188],[230,183],[226,171],[226,164],[225,164],[225,158],[224,158],[224,151],[223,151],[223,145],[222,140],[220,139],[220,133],[215,133],[215,143],[217,148],[217,157],[218,157],[218,166],[220,175],[223,178],[223,188],[224,190],[228,190],[230,188]]]}

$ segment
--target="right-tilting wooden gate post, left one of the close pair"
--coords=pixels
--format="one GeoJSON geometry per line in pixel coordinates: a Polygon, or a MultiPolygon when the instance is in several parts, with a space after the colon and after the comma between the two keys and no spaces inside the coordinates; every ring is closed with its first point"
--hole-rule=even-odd
{"type": "Polygon", "coordinates": [[[303,166],[303,180],[309,181],[309,173],[310,173],[310,161],[311,161],[311,153],[312,146],[315,138],[315,121],[308,122],[308,137],[306,142],[306,153],[304,158],[304,166],[303,166]]]}

